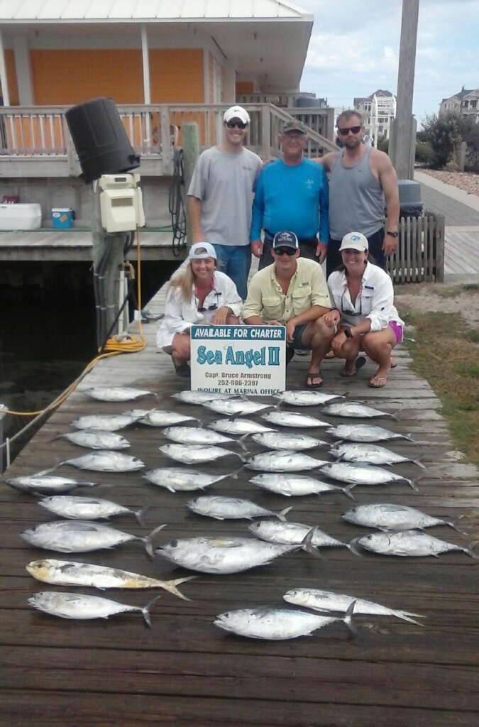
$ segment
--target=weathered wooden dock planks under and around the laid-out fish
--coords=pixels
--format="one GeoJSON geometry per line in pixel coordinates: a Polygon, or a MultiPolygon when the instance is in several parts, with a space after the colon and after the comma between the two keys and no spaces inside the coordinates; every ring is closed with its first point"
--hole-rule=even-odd
{"type": "MultiPolygon", "coordinates": [[[[161,310],[162,296],[150,302],[150,313],[161,310]]],[[[25,447],[4,477],[33,473],[55,462],[84,454],[57,434],[71,429],[79,414],[124,411],[128,403],[94,402],[82,393],[92,384],[115,383],[145,387],[158,398],[133,406],[182,409],[204,422],[218,415],[198,406],[176,403],[170,394],[182,387],[169,357],[154,345],[156,324],[143,326],[148,346],[100,362],[81,382],[39,433],[25,447]]],[[[339,377],[339,362],[323,364],[325,390],[377,404],[398,412],[399,421],[374,420],[391,430],[411,434],[416,443],[397,440],[392,449],[423,457],[426,470],[412,463],[394,471],[417,478],[419,494],[406,483],[353,494],[358,504],[398,502],[443,518],[467,515],[467,535],[440,526],[431,534],[467,546],[478,538],[478,473],[462,465],[451,451],[440,403],[427,382],[408,369],[408,356],[398,351],[398,367],[388,386],[366,386],[374,371],[366,364],[355,379],[339,377]]],[[[307,361],[296,357],[287,372],[289,388],[301,388],[307,361]]],[[[308,413],[313,413],[308,408],[308,413]]],[[[320,414],[319,409],[315,410],[320,414]]],[[[335,423],[344,420],[328,418],[335,423]]],[[[306,433],[323,435],[323,431],[306,433]]],[[[174,466],[158,451],[166,440],[161,430],[135,425],[122,432],[132,443],[131,454],[146,469],[174,466]]],[[[331,439],[332,441],[332,439],[331,439]]],[[[238,446],[232,446],[240,451],[238,446]]],[[[254,445],[251,451],[260,451],[254,445]]],[[[329,458],[324,451],[312,451],[329,458]]],[[[238,467],[228,457],[198,467],[228,473],[238,467]]],[[[134,518],[114,524],[145,535],[167,523],[158,543],[196,534],[249,534],[245,521],[210,521],[189,513],[185,501],[193,494],[173,494],[141,478],[141,472],[85,473],[63,465],[65,475],[93,479],[98,486],[79,490],[122,505],[152,505],[142,528],[134,518]]],[[[342,521],[353,505],[342,494],[283,498],[249,483],[243,470],[238,479],[225,479],[209,491],[249,497],[273,510],[293,505],[289,520],[318,525],[348,542],[366,534],[342,521]]],[[[321,477],[321,475],[318,475],[321,477]]],[[[346,548],[323,550],[326,560],[299,552],[278,558],[270,566],[243,574],[201,575],[180,586],[191,601],[164,591],[153,606],[153,628],[140,614],[108,621],[75,622],[56,619],[28,608],[28,597],[41,590],[74,590],[42,584],[25,566],[39,558],[60,558],[116,566],[154,577],[180,577],[161,558],[148,560],[141,542],[116,550],[62,555],[28,546],[20,531],[49,521],[35,499],[0,484],[0,725],[2,727],[477,727],[479,721],[479,563],[465,553],[440,558],[388,558],[365,553],[358,558],[346,548]],[[259,604],[280,604],[292,587],[325,587],[338,593],[379,601],[392,608],[424,616],[424,627],[389,617],[357,616],[361,638],[349,638],[339,622],[310,638],[291,641],[246,640],[213,625],[223,611],[259,604]]],[[[83,593],[145,606],[156,591],[83,593]]]]}

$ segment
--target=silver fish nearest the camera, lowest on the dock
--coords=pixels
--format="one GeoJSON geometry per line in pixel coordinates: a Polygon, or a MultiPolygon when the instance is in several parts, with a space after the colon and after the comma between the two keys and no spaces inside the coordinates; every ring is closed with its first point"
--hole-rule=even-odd
{"type": "Polygon", "coordinates": [[[354,603],[348,608],[346,616],[321,616],[310,611],[299,611],[297,608],[281,606],[257,606],[255,608],[238,608],[226,611],[214,620],[214,625],[246,638],[267,640],[286,640],[299,636],[310,636],[313,631],[344,621],[347,627],[356,633],[351,622],[354,603]]]}

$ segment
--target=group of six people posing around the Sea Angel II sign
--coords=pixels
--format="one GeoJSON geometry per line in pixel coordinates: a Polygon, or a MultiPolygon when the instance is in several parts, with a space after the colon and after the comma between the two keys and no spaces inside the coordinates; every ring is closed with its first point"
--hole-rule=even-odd
{"type": "Polygon", "coordinates": [[[400,212],[390,158],[363,143],[356,111],[337,118],[342,147],[317,159],[305,158],[306,127],[292,120],[281,158],[263,164],[244,147],[249,123],[244,108],[229,108],[222,142],[198,158],[188,190],[193,244],[172,278],[158,347],[190,377],[192,324],[285,326],[286,364],[311,351],[305,387],[323,384],[325,357],[344,358],[341,375],[354,376],[361,350],[378,366],[369,386],[385,386],[404,325],[386,267],[400,212]],[[251,255],[259,264],[248,285],[251,255]]]}

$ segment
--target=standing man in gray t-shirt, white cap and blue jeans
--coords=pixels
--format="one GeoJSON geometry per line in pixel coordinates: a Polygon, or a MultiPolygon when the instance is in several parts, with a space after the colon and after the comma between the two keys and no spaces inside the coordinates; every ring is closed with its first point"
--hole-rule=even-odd
{"type": "Polygon", "coordinates": [[[222,142],[198,157],[188,190],[192,242],[214,245],[217,270],[233,280],[243,300],[251,265],[251,204],[262,169],[259,156],[243,147],[249,121],[241,106],[225,111],[222,142]]]}

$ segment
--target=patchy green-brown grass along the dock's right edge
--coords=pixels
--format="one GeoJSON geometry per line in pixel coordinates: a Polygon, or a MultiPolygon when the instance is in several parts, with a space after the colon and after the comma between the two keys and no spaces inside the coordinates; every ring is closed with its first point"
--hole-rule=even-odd
{"type": "Polygon", "coordinates": [[[411,369],[440,398],[454,448],[479,467],[479,333],[460,313],[415,313],[406,305],[400,308],[400,316],[414,326],[414,333],[406,332],[404,341],[413,360],[411,369]]]}

